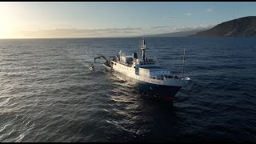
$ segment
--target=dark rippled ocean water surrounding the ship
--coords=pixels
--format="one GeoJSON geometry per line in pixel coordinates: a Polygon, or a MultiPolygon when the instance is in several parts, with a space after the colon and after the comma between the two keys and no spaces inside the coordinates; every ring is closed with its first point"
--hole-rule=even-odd
{"type": "Polygon", "coordinates": [[[192,84],[163,102],[106,72],[99,54],[141,38],[0,40],[0,142],[256,142],[256,38],[146,38],[192,84]]]}

